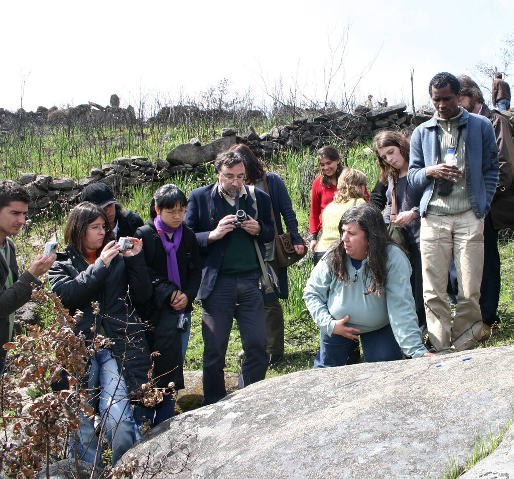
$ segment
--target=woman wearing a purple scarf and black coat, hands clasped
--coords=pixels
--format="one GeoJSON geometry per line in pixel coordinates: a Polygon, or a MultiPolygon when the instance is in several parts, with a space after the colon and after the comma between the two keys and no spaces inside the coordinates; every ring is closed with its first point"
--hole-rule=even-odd
{"type": "MultiPolygon", "coordinates": [[[[200,254],[196,236],[185,224],[186,195],[176,185],[164,185],[150,203],[148,224],[135,236],[143,240],[146,265],[154,295],[141,311],[149,322],[148,340],[154,356],[154,380],[157,386],[182,389],[182,363],[191,329],[191,311],[201,281],[200,254]]],[[[153,425],[174,415],[173,393],[155,408],[153,425]]],[[[152,419],[152,418],[150,418],[152,419]]]]}

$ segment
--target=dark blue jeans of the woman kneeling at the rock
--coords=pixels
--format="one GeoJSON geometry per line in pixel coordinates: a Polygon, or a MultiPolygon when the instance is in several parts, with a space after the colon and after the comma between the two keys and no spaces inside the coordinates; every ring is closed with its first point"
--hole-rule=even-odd
{"type": "MultiPolygon", "coordinates": [[[[360,341],[366,362],[396,361],[401,359],[401,349],[393,335],[391,325],[369,333],[361,333],[360,341]]],[[[353,339],[340,335],[328,336],[321,331],[320,350],[314,360],[314,369],[342,366],[355,346],[353,339]]]]}

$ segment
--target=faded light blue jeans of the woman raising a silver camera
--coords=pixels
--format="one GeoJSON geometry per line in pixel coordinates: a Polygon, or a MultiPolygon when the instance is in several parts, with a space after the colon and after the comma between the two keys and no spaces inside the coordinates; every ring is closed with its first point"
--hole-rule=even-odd
{"type": "MultiPolygon", "coordinates": [[[[98,402],[102,418],[101,428],[111,445],[114,466],[141,436],[132,417],[125,380],[119,375],[118,363],[108,349],[102,349],[91,357],[87,389],[91,406],[95,407],[98,402]],[[95,397],[98,391],[100,395],[95,397]]],[[[98,439],[94,417],[86,418],[81,412],[80,427],[73,439],[78,458],[102,466],[102,444],[98,439]]],[[[73,455],[73,443],[71,446],[73,455]]]]}

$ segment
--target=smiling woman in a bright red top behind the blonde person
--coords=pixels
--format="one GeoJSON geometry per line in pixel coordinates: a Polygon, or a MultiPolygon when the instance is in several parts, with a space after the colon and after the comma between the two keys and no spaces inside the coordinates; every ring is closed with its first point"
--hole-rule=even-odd
{"type": "MultiPolygon", "coordinates": [[[[318,150],[317,157],[320,176],[313,181],[309,212],[309,250],[313,254],[318,243],[318,235],[323,228],[323,210],[334,199],[337,180],[345,168],[341,163],[339,152],[334,146],[323,146],[318,150]]],[[[370,197],[368,190],[365,190],[364,196],[368,200],[370,197]]]]}

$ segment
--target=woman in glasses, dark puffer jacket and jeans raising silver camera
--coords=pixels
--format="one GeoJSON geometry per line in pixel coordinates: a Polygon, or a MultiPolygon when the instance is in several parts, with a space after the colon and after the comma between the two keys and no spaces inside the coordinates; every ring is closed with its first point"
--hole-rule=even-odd
{"type": "MultiPolygon", "coordinates": [[[[70,314],[83,313],[74,331],[85,336],[86,347],[93,351],[84,383],[91,406],[100,412],[100,430],[111,446],[114,465],[140,437],[131,399],[148,382],[151,361],[135,306],[149,301],[153,290],[142,241],[129,238],[132,248],[122,251],[109,240],[108,224],[99,206],[77,205],[66,220],[65,252],[57,253],[48,275],[50,289],[70,314]],[[103,338],[108,346],[98,344],[103,338]]],[[[95,432],[94,417],[81,413],[72,451],[76,447],[79,459],[100,465],[102,440],[95,432]]]]}

